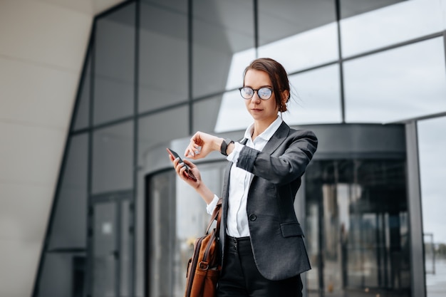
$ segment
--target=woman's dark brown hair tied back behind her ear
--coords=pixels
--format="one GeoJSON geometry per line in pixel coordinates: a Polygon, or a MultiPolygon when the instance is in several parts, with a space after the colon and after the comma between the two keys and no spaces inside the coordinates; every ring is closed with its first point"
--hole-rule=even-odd
{"type": "Polygon", "coordinates": [[[257,58],[252,61],[243,72],[243,84],[244,76],[249,70],[258,70],[268,73],[269,79],[273,84],[274,98],[276,98],[276,106],[279,108],[281,113],[286,111],[286,104],[282,103],[282,92],[284,90],[288,91],[288,98],[286,98],[286,103],[288,103],[291,90],[289,86],[288,74],[285,71],[284,66],[281,63],[271,59],[271,58],[257,58]]]}

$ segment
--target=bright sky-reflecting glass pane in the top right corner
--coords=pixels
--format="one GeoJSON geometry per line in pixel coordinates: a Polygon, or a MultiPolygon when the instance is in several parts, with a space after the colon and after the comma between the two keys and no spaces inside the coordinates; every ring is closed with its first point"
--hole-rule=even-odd
{"type": "MultiPolygon", "coordinates": [[[[343,56],[442,31],[445,25],[445,4],[441,1],[403,1],[341,20],[343,56]]],[[[350,3],[343,6],[348,5],[350,3]]]]}

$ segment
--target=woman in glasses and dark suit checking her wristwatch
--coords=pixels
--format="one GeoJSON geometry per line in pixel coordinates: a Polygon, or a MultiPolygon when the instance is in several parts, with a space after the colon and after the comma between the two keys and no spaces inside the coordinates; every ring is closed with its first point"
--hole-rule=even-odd
{"type": "MultiPolygon", "coordinates": [[[[224,177],[220,253],[222,275],[217,296],[302,296],[300,273],[311,269],[303,232],[294,212],[301,176],[316,152],[317,138],[294,130],[279,113],[290,98],[289,79],[271,58],[254,60],[244,71],[240,93],[254,120],[240,142],[197,132],[185,150],[192,160],[217,150],[227,156],[224,177]]],[[[212,213],[218,197],[199,170],[171,157],[175,171],[207,203],[212,213]]]]}

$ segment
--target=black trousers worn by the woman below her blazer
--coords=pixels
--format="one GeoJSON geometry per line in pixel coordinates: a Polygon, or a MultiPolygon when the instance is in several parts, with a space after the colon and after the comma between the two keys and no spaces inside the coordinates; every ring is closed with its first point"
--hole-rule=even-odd
{"type": "MultiPolygon", "coordinates": [[[[227,236],[218,297],[301,297],[301,276],[270,281],[259,273],[252,255],[249,237],[227,236]]],[[[265,243],[266,244],[266,243],[265,243]]]]}

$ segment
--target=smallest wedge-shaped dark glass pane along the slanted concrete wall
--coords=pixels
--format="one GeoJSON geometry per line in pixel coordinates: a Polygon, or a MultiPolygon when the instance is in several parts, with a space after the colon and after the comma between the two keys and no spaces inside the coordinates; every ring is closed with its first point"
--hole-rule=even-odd
{"type": "Polygon", "coordinates": [[[76,120],[73,130],[88,127],[90,122],[90,82],[91,82],[91,55],[88,53],[85,73],[82,78],[82,85],[79,87],[79,102],[76,110],[76,120]]]}

